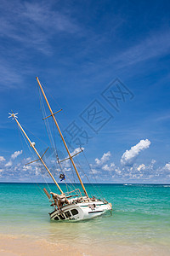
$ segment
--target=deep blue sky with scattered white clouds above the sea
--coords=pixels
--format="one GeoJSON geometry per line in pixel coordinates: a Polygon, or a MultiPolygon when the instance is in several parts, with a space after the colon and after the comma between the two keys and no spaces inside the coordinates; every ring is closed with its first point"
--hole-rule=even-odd
{"type": "MultiPolygon", "coordinates": [[[[54,112],[63,108],[56,117],[71,152],[85,148],[89,177],[170,183],[169,5],[1,1],[0,181],[41,180],[37,166],[24,165],[35,157],[8,119],[11,110],[19,113],[38,150],[47,148],[37,76],[54,112]]],[[[64,168],[69,176],[71,167],[64,168]]]]}

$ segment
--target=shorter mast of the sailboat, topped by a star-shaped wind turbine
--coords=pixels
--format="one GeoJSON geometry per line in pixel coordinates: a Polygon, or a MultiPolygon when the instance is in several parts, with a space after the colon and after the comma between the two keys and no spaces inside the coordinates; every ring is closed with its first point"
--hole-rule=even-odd
{"type": "Polygon", "coordinates": [[[26,131],[24,131],[24,129],[23,129],[22,126],[20,125],[19,121],[16,119],[15,114],[14,114],[14,113],[11,113],[11,117],[13,117],[13,118],[15,119],[17,125],[19,125],[19,127],[20,127],[20,130],[24,133],[24,135],[26,136],[26,139],[27,139],[28,142],[30,143],[31,148],[34,149],[34,151],[36,152],[36,154],[37,154],[39,160],[41,160],[42,165],[46,168],[46,170],[48,171],[49,175],[50,175],[50,176],[52,177],[52,179],[54,180],[54,183],[55,183],[56,186],[58,187],[58,189],[59,189],[59,191],[61,192],[61,194],[63,194],[62,189],[60,189],[59,184],[56,182],[56,180],[54,179],[52,173],[49,171],[48,166],[46,166],[46,164],[45,164],[44,161],[42,160],[42,157],[41,157],[40,154],[37,152],[37,149],[35,148],[35,144],[34,144],[34,143],[31,143],[31,140],[30,140],[29,137],[26,135],[26,131]]]}

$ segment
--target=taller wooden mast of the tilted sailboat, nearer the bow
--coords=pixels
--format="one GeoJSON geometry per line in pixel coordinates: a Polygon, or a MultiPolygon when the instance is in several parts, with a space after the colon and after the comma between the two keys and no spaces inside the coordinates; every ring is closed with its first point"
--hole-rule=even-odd
{"type": "Polygon", "coordinates": [[[61,139],[62,139],[62,141],[63,141],[63,143],[64,143],[64,145],[65,145],[65,148],[66,148],[66,151],[67,151],[67,153],[68,153],[68,155],[69,155],[69,158],[70,158],[70,160],[71,160],[72,166],[74,167],[75,171],[77,172],[77,177],[78,177],[78,179],[79,179],[79,181],[80,181],[80,183],[81,183],[81,185],[82,185],[82,189],[83,189],[85,195],[87,195],[87,197],[88,197],[88,193],[87,193],[87,191],[86,191],[86,189],[85,189],[85,187],[84,187],[84,185],[83,185],[83,183],[82,183],[82,178],[80,177],[80,175],[79,175],[79,173],[78,173],[78,171],[77,171],[77,166],[75,165],[74,160],[72,159],[71,153],[70,153],[69,148],[67,147],[67,145],[66,145],[66,143],[65,143],[65,139],[64,139],[64,137],[63,137],[63,135],[62,135],[62,133],[61,133],[61,131],[60,131],[59,125],[58,125],[58,123],[57,123],[57,120],[55,119],[55,116],[54,116],[54,113],[53,113],[53,111],[52,111],[52,108],[50,107],[49,102],[48,102],[48,99],[47,99],[47,97],[46,97],[46,95],[45,95],[45,93],[44,93],[44,91],[43,91],[43,89],[42,89],[42,84],[40,84],[40,81],[39,81],[39,79],[38,79],[37,77],[36,77],[36,79],[37,79],[37,83],[38,83],[39,86],[40,86],[40,89],[42,90],[42,95],[44,96],[45,101],[46,101],[47,104],[48,104],[49,111],[50,111],[50,113],[51,113],[52,118],[54,119],[55,125],[57,126],[57,129],[58,129],[58,131],[59,131],[59,135],[60,135],[60,137],[61,137],[61,139]]]}

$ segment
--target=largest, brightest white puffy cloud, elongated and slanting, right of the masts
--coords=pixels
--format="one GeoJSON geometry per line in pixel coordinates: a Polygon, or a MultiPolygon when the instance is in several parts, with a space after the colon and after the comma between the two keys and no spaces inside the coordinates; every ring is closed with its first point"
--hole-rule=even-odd
{"type": "Polygon", "coordinates": [[[130,166],[133,163],[133,160],[140,153],[140,151],[149,147],[150,147],[150,141],[148,139],[141,140],[138,144],[130,148],[130,150],[126,150],[125,153],[122,154],[122,159],[121,159],[122,165],[130,166]]]}

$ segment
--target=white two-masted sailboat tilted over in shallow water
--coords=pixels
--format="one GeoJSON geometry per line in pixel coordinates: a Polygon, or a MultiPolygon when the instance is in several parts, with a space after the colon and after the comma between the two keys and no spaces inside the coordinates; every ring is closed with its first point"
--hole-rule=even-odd
{"type": "MultiPolygon", "coordinates": [[[[20,130],[30,143],[31,148],[36,152],[38,159],[42,162],[42,165],[45,167],[46,171],[48,172],[49,176],[52,177],[54,183],[59,189],[60,194],[56,194],[54,192],[48,193],[47,189],[43,189],[45,194],[48,196],[49,201],[51,202],[51,206],[54,207],[54,211],[50,212],[50,218],[53,220],[82,220],[82,219],[88,219],[88,218],[94,218],[101,214],[104,214],[105,212],[111,211],[112,206],[111,203],[108,203],[108,201],[100,200],[95,198],[95,196],[89,197],[87,190],[85,189],[84,184],[82,183],[82,178],[80,177],[80,174],[77,170],[77,166],[75,165],[75,162],[73,160],[73,157],[77,154],[71,155],[69,148],[67,147],[67,144],[65,143],[65,138],[63,137],[58,122],[55,119],[55,113],[53,112],[52,108],[49,105],[48,99],[44,93],[44,90],[42,89],[42,84],[40,84],[39,79],[37,78],[37,83],[39,85],[39,88],[42,91],[42,95],[44,96],[45,101],[47,102],[50,115],[46,117],[45,119],[52,117],[54,119],[54,124],[56,125],[59,136],[62,139],[62,142],[64,143],[66,152],[68,154],[68,158],[65,160],[70,159],[71,165],[73,166],[77,177],[79,179],[79,182],[81,183],[82,190],[84,195],[82,195],[80,189],[74,189],[69,192],[63,192],[63,190],[60,188],[59,183],[55,180],[53,174],[49,171],[48,166],[46,165],[45,161],[42,159],[42,156],[37,152],[37,148],[35,147],[35,143],[31,142],[31,139],[27,136],[26,131],[24,131],[23,127],[20,125],[18,119],[17,119],[17,113],[9,113],[9,117],[12,117],[17,125],[20,127],[20,130]]],[[[36,161],[37,161],[36,160],[36,161]]],[[[59,158],[57,159],[58,163],[60,164],[61,161],[59,161],[59,158]]],[[[34,161],[31,161],[31,163],[34,161]]],[[[65,175],[60,174],[59,178],[64,179],[65,175]]]]}

